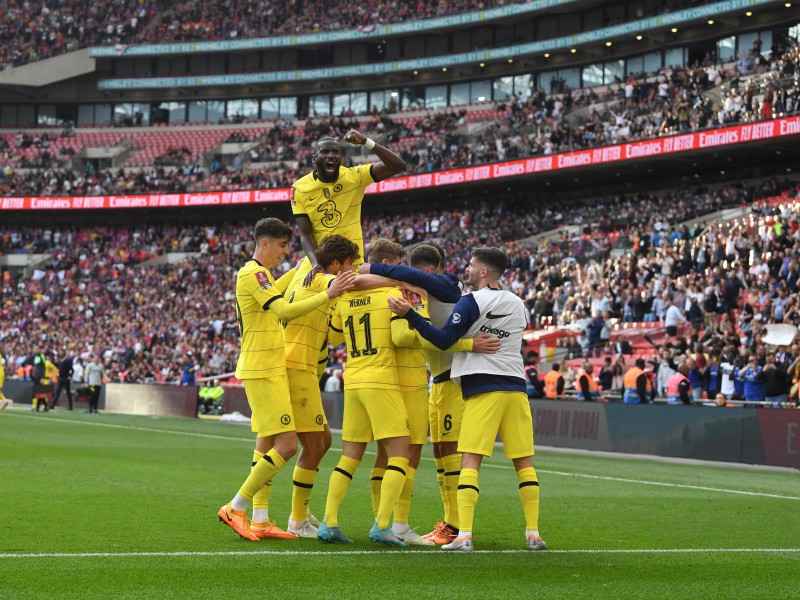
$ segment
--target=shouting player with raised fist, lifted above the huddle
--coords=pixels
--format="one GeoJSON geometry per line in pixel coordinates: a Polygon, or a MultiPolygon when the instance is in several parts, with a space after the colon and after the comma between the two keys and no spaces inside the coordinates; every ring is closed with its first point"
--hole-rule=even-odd
{"type": "Polygon", "coordinates": [[[303,251],[312,267],[305,285],[309,285],[317,273],[323,271],[317,263],[314,250],[329,235],[346,237],[358,246],[359,254],[364,256],[361,231],[364,190],[371,183],[388,179],[406,168],[400,156],[358,131],[348,131],[344,141],[372,150],[380,162],[343,167],[342,149],[336,138],[324,137],[314,143],[314,171],[292,185],[292,213],[300,228],[303,251]]]}

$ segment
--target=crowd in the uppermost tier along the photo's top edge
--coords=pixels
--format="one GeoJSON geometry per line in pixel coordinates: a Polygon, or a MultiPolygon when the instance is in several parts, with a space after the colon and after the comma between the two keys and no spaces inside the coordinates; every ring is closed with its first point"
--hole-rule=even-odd
{"type": "MultiPolygon", "coordinates": [[[[87,46],[229,40],[379,25],[485,10],[521,0],[369,0],[357,5],[311,0],[11,0],[0,4],[0,70],[87,46]],[[308,15],[318,15],[309,18],[308,15]],[[326,18],[321,18],[325,15],[326,18]]],[[[653,14],[696,4],[663,0],[653,14]]],[[[644,11],[637,17],[645,16],[644,11]]],[[[504,43],[513,43],[508,39],[504,43]]]]}

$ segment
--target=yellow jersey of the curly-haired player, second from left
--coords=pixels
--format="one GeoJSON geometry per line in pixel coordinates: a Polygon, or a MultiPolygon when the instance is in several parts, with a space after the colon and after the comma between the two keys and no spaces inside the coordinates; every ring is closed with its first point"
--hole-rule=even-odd
{"type": "MultiPolygon", "coordinates": [[[[310,264],[309,264],[310,266],[310,264]]],[[[309,287],[303,286],[308,269],[299,269],[289,286],[289,303],[300,302],[328,289],[333,275],[318,273],[309,287]]],[[[286,368],[317,372],[321,350],[327,348],[332,304],[323,304],[303,317],[284,324],[286,368]]],[[[327,353],[325,354],[327,358],[327,353]]],[[[327,361],[326,361],[327,362],[327,361]]]]}

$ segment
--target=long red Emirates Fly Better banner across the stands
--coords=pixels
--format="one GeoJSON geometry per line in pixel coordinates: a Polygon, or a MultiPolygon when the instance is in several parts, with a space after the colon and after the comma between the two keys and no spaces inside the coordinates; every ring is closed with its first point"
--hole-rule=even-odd
{"type": "MultiPolygon", "coordinates": [[[[732,144],[746,144],[758,140],[800,134],[800,116],[772,121],[735,125],[710,131],[696,131],[682,135],[629,142],[616,146],[589,148],[562,154],[533,156],[521,160],[393,177],[367,188],[367,194],[385,194],[421,188],[430,188],[501,177],[515,177],[546,173],[573,167],[589,167],[621,160],[651,158],[702,150],[732,144]]],[[[139,196],[82,196],[82,197],[6,197],[0,198],[0,210],[72,210],[100,208],[175,208],[185,206],[231,206],[261,202],[288,202],[290,188],[247,190],[238,192],[202,192],[188,194],[146,194],[139,196]]]]}

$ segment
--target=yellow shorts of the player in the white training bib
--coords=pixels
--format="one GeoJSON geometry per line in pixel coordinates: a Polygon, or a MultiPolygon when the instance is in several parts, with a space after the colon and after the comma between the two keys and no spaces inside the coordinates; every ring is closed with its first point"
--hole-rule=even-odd
{"type": "Polygon", "coordinates": [[[497,434],[506,458],[533,456],[531,405],[524,392],[486,392],[464,401],[458,451],[491,456],[497,434]]]}

